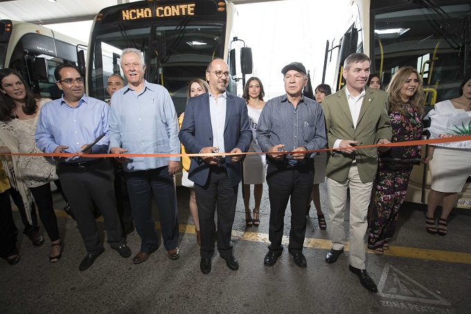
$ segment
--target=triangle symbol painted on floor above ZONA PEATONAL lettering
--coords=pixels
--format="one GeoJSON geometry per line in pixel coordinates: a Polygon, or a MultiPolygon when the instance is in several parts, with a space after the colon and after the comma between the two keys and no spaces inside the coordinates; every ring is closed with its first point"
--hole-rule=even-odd
{"type": "Polygon", "coordinates": [[[377,285],[378,295],[391,299],[423,302],[428,304],[440,304],[450,306],[449,302],[436,293],[425,288],[411,277],[386,264],[377,285]]]}

